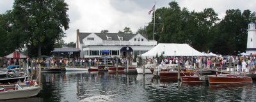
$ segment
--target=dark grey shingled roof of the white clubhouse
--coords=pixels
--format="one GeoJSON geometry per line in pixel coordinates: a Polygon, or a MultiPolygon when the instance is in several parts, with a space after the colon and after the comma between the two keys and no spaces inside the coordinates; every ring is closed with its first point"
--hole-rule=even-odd
{"type": "MultiPolygon", "coordinates": [[[[83,43],[83,39],[86,38],[87,36],[89,36],[90,34],[92,34],[92,33],[79,33],[80,43],[83,43]]],[[[118,36],[123,37],[123,41],[129,41],[129,40],[131,40],[131,38],[133,38],[134,36],[137,35],[137,34],[126,34],[126,33],[106,33],[106,34],[105,33],[94,33],[94,34],[99,36],[99,38],[101,38],[102,40],[108,40],[107,39],[107,36],[108,36],[108,37],[111,37],[111,40],[114,40],[114,41],[119,40],[118,36]]],[[[146,34],[141,34],[141,36],[148,39],[146,34]]]]}

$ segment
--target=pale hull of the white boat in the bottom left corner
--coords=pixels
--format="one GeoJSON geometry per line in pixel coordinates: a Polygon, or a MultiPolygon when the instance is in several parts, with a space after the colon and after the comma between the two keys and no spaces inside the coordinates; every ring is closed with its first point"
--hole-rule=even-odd
{"type": "Polygon", "coordinates": [[[31,96],[36,96],[41,90],[41,87],[30,87],[28,89],[25,88],[26,87],[20,90],[0,92],[0,99],[29,98],[31,96]]]}

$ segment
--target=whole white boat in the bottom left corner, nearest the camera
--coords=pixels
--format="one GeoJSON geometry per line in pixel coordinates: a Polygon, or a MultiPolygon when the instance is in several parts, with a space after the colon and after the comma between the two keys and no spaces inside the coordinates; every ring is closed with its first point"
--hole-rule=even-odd
{"type": "Polygon", "coordinates": [[[2,99],[18,99],[18,98],[29,98],[36,96],[41,90],[41,87],[32,85],[29,87],[21,87],[16,84],[15,87],[11,88],[0,88],[0,100],[2,99]]]}

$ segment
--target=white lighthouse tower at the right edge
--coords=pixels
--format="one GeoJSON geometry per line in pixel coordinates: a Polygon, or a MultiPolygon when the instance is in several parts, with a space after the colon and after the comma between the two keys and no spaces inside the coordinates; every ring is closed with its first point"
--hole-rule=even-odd
{"type": "Polygon", "coordinates": [[[247,48],[246,54],[256,54],[256,29],[255,23],[250,22],[248,24],[248,37],[247,37],[247,48]]]}

